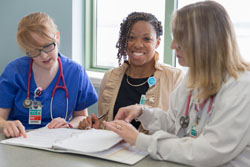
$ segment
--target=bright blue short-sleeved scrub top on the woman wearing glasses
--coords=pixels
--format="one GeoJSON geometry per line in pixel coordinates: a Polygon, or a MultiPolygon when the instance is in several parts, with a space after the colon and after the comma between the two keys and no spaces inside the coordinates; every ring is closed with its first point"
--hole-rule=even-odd
{"type": "MultiPolygon", "coordinates": [[[[67,121],[70,120],[74,111],[83,110],[97,102],[96,91],[82,66],[61,55],[63,75],[69,92],[69,110],[67,121]]],[[[29,57],[21,57],[10,62],[0,76],[0,108],[11,108],[8,120],[19,120],[26,129],[35,129],[46,126],[51,122],[50,101],[52,91],[56,85],[60,68],[55,78],[47,89],[42,91],[41,96],[36,98],[43,105],[41,125],[29,124],[29,109],[23,107],[23,101],[27,95],[29,57]]],[[[62,85],[60,80],[59,85],[62,85]]],[[[34,91],[37,85],[34,80],[33,71],[30,81],[30,98],[34,100],[34,91]]],[[[66,96],[63,89],[57,89],[53,99],[53,118],[65,118],[66,96]]]]}

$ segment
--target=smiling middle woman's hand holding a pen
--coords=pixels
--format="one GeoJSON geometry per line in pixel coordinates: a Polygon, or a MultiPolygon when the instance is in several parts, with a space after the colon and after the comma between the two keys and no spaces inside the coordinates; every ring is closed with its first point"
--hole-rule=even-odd
{"type": "Polygon", "coordinates": [[[87,118],[83,119],[79,125],[79,129],[100,129],[100,121],[98,120],[98,117],[92,113],[91,116],[87,116],[87,118]]]}

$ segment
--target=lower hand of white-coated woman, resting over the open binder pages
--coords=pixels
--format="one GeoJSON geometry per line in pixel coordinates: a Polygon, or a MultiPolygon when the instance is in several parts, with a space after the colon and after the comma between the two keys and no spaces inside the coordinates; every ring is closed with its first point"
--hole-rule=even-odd
{"type": "Polygon", "coordinates": [[[121,136],[130,145],[135,145],[139,132],[130,123],[123,120],[115,120],[111,122],[103,121],[103,124],[107,129],[112,130],[121,136]]]}

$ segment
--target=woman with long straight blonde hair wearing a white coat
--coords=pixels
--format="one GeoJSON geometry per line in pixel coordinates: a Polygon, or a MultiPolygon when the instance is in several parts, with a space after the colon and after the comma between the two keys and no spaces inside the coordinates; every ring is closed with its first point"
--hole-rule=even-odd
{"type": "Polygon", "coordinates": [[[185,165],[250,164],[250,68],[241,58],[231,20],[217,2],[179,9],[172,49],[189,72],[172,93],[168,112],[133,105],[104,125],[136,149],[185,165]],[[129,123],[137,118],[150,135],[129,123]]]}

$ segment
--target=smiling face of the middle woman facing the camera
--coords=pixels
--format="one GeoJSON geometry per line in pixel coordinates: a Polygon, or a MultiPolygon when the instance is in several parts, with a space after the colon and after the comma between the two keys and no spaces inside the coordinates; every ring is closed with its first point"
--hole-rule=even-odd
{"type": "Polygon", "coordinates": [[[156,38],[156,32],[150,23],[137,21],[128,35],[127,53],[130,64],[144,66],[154,61],[155,49],[160,44],[160,38],[156,38]]]}

